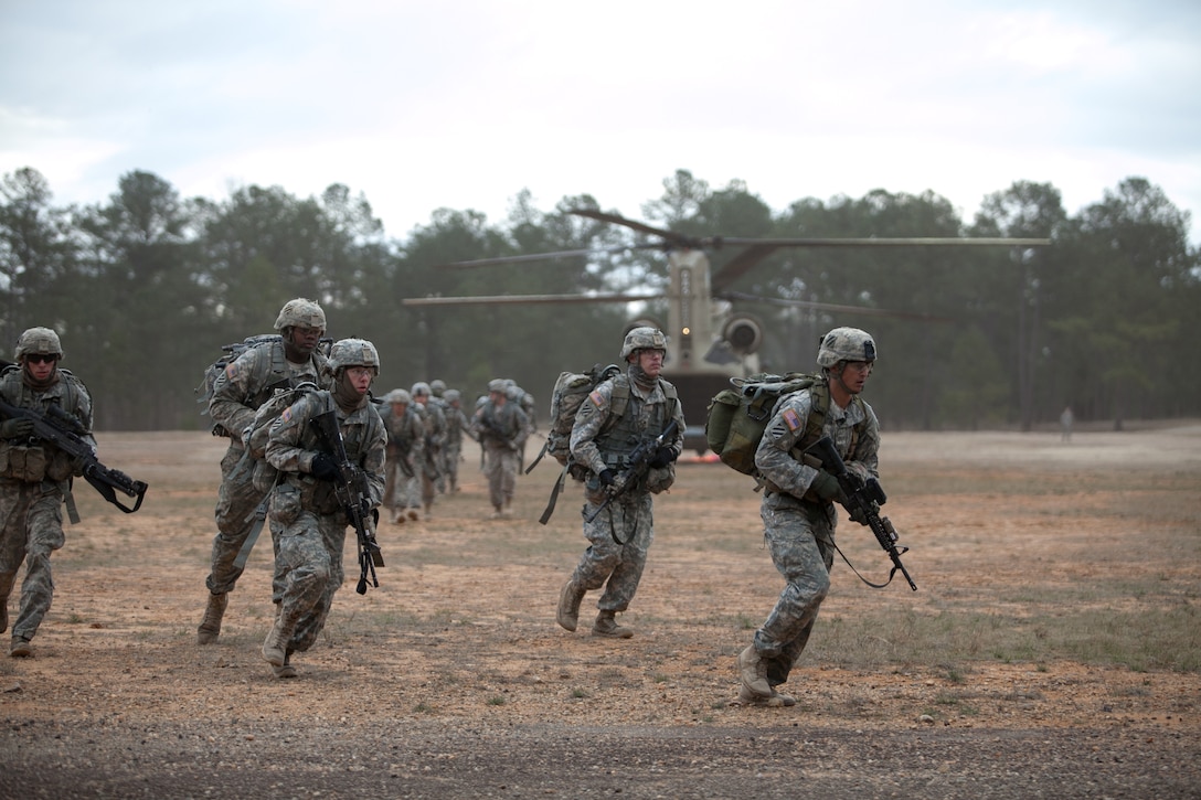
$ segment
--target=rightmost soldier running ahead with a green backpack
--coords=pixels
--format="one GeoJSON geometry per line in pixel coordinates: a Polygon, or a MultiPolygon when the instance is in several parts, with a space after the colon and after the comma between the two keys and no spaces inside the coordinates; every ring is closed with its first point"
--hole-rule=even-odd
{"type": "Polygon", "coordinates": [[[830,591],[833,501],[842,496],[837,478],[797,454],[827,435],[847,470],[864,480],[878,477],[880,425],[859,396],[876,358],[876,342],[858,328],[835,328],[823,336],[818,365],[825,382],[781,398],[755,450],[766,482],[759,513],[772,563],[787,583],[754,641],[739,655],[736,703],[796,703],[776,687],[788,680],[830,591]],[[820,425],[811,424],[813,416],[821,418],[820,425]]]}

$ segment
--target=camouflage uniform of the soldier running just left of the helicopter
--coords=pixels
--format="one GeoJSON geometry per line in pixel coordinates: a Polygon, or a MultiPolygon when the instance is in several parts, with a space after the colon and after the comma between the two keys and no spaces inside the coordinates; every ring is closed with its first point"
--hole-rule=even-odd
{"type": "MultiPolygon", "coordinates": [[[[597,384],[580,406],[572,429],[572,456],[587,468],[584,480],[584,496],[587,501],[582,511],[585,518],[609,496],[599,474],[607,468],[620,473],[626,465],[625,458],[634,447],[649,437],[658,436],[673,419],[676,420],[677,430],[675,437],[665,444],[679,455],[683,450],[685,420],[680,402],[675,399],[675,388],[670,383],[661,378],[647,392],[639,388],[628,375],[619,375],[597,384]],[[615,418],[613,400],[615,388],[619,387],[628,387],[629,399],[621,417],[615,418]]],[[[674,482],[674,464],[651,468],[640,485],[616,496],[591,523],[584,523],[584,537],[590,545],[564,586],[564,592],[574,591],[582,598],[585,592],[604,586],[604,593],[597,601],[600,617],[594,632],[629,635],[626,628],[616,627],[605,633],[604,626],[613,622],[615,613],[629,607],[638,591],[646,566],[646,554],[655,539],[651,495],[669,489],[674,482]]],[[[576,608],[578,603],[579,599],[575,601],[576,608]]],[[[569,629],[574,629],[574,625],[569,629]]]]}

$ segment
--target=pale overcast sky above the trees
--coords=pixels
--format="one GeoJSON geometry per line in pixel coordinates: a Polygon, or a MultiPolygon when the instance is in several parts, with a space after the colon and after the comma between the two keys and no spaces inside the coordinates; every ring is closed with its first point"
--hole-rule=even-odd
{"type": "MultiPolygon", "coordinates": [[[[331,183],[404,238],[528,189],[641,219],[663,180],[805,197],[1124,178],[1201,239],[1201,2],[0,0],[0,174],[104,202],[331,183]]],[[[727,233],[727,232],[715,232],[727,233]]]]}

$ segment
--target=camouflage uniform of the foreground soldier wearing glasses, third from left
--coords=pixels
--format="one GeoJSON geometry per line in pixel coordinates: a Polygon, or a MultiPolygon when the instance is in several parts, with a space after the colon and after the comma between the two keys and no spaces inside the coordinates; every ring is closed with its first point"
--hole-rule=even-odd
{"type": "Polygon", "coordinates": [[[309,420],[330,410],[337,416],[347,456],[366,478],[370,506],[377,507],[383,496],[388,434],[374,404],[346,413],[330,392],[309,392],[271,425],[267,460],[281,478],[271,490],[268,520],[279,542],[276,565],[283,584],[273,634],[282,632],[288,655],[304,652],[316,641],[345,579],[346,509],[337,502],[334,484],[312,474],[321,450],[309,420]]]}

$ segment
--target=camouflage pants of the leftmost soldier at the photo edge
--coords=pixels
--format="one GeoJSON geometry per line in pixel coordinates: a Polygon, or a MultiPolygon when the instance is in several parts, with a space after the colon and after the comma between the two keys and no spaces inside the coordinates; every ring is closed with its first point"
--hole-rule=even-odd
{"type": "Polygon", "coordinates": [[[54,597],[50,554],[65,543],[62,494],[58,484],[0,480],[0,602],[8,603],[17,571],[25,561],[20,610],[12,626],[14,637],[32,639],[50,610],[54,597]]]}

